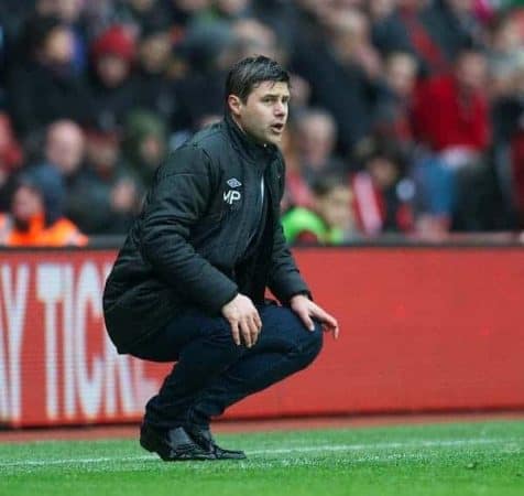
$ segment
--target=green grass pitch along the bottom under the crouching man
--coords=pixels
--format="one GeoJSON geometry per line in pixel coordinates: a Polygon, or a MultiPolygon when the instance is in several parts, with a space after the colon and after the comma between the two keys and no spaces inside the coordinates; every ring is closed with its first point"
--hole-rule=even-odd
{"type": "Polygon", "coordinates": [[[217,438],[249,460],[164,463],[135,440],[0,444],[0,495],[524,495],[522,421],[217,438]]]}

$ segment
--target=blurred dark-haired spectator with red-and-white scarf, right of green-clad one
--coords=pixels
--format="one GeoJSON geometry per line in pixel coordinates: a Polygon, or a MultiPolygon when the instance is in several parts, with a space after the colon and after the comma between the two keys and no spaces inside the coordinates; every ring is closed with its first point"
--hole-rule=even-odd
{"type": "Polygon", "coordinates": [[[368,236],[410,233],[413,229],[414,184],[405,175],[405,158],[394,142],[370,139],[357,149],[362,171],[351,190],[360,230],[368,236]]]}

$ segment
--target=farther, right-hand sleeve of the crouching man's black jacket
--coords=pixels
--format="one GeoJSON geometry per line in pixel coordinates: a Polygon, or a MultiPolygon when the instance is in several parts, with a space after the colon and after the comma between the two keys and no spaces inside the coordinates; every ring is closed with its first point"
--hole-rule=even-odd
{"type": "MultiPolygon", "coordinates": [[[[284,194],[283,162],[281,163],[280,180],[279,203],[284,194]]],[[[291,298],[295,294],[306,294],[312,298],[309,288],[302,278],[290,248],[287,247],[280,216],[277,215],[275,217],[269,288],[283,304],[287,304],[291,298]]]]}

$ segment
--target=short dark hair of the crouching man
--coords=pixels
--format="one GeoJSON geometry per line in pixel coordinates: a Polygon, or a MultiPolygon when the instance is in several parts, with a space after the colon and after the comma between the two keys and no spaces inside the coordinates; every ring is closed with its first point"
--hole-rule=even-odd
{"type": "Polygon", "coordinates": [[[266,80],[290,84],[290,74],[277,62],[264,55],[242,58],[229,71],[226,103],[229,95],[237,95],[245,103],[249,94],[266,80]]]}

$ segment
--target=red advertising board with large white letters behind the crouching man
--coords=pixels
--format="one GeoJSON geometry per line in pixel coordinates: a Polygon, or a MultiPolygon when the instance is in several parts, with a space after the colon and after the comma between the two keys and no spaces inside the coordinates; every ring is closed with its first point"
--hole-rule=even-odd
{"type": "MultiPolygon", "coordinates": [[[[524,408],[524,250],[296,252],[340,321],[308,370],[230,418],[524,408]]],[[[116,354],[101,291],[111,250],[0,252],[0,421],[138,420],[168,366],[116,354]]]]}

